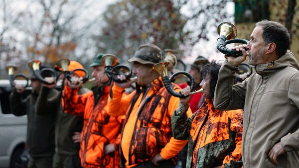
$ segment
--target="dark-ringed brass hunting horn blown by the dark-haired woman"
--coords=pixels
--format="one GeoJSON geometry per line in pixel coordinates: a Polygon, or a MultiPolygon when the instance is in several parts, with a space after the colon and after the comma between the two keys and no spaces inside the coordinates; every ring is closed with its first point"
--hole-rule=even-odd
{"type": "MultiPolygon", "coordinates": [[[[180,97],[180,98],[183,98],[183,97],[186,97],[184,96],[183,94],[181,93],[178,93],[176,91],[174,91],[172,89],[172,85],[171,85],[171,80],[179,75],[179,74],[183,74],[185,75],[187,78],[189,78],[190,80],[190,89],[191,91],[194,90],[194,79],[193,77],[191,76],[191,74],[187,73],[187,72],[184,72],[184,71],[180,71],[180,72],[176,72],[174,73],[173,75],[171,75],[169,78],[167,76],[167,65],[169,63],[168,62],[160,62],[160,63],[157,63],[155,65],[152,66],[152,69],[155,70],[156,72],[158,72],[158,74],[162,77],[162,81],[164,83],[164,86],[166,88],[166,90],[173,96],[175,97],[180,97]]],[[[195,92],[194,92],[195,93],[195,92]]]]}

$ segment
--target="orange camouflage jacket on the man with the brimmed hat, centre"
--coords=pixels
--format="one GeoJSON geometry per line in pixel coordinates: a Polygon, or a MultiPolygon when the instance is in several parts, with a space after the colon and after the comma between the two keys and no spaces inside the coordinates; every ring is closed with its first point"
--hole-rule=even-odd
{"type": "MultiPolygon", "coordinates": [[[[176,91],[179,90],[177,85],[173,86],[176,91]]],[[[170,120],[179,98],[167,92],[161,78],[129,95],[122,94],[124,89],[116,85],[112,90],[113,100],[108,99],[108,113],[127,114],[121,136],[121,165],[134,167],[156,154],[165,160],[175,161],[178,152],[187,143],[172,137],[170,120]]],[[[192,115],[190,109],[187,114],[192,115]]]]}

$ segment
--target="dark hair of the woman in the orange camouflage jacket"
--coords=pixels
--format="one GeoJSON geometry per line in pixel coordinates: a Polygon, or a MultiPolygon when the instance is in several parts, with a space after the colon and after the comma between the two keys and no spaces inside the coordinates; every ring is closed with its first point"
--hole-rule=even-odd
{"type": "Polygon", "coordinates": [[[200,71],[202,79],[205,79],[207,76],[210,77],[210,95],[206,97],[207,99],[212,99],[214,97],[220,67],[220,64],[217,64],[215,60],[212,60],[210,64],[206,64],[200,71]]]}

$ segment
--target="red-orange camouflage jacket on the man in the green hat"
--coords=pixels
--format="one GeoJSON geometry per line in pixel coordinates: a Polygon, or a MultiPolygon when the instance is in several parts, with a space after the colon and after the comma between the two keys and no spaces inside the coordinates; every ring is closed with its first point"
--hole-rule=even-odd
{"type": "Polygon", "coordinates": [[[107,100],[110,86],[94,87],[93,91],[78,95],[77,89],[65,86],[63,98],[66,112],[84,115],[81,133],[80,158],[84,168],[118,168],[120,158],[116,142],[125,116],[110,116],[107,100]],[[97,102],[97,104],[95,104],[97,102]],[[84,111],[84,113],[82,113],[84,111]],[[105,155],[104,146],[115,144],[116,151],[105,155]]]}

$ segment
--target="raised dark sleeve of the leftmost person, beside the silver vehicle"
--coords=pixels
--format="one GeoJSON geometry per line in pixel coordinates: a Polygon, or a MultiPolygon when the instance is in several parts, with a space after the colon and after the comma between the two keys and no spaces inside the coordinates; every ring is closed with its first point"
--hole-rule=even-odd
{"type": "Polygon", "coordinates": [[[30,95],[25,99],[21,99],[21,94],[14,89],[9,95],[11,113],[15,116],[25,115],[26,113],[26,101],[30,98],[30,95]]]}

